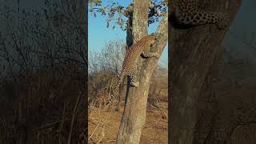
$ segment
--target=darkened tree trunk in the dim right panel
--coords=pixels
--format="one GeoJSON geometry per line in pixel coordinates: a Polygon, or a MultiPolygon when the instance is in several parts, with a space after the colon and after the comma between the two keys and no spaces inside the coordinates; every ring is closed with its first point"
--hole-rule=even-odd
{"type": "MultiPolygon", "coordinates": [[[[233,20],[242,0],[228,1],[228,12],[233,20]]],[[[210,0],[204,9],[223,10],[225,5],[225,0],[210,0]]],[[[170,23],[172,20],[174,18],[170,17],[170,23]]],[[[169,25],[169,141],[172,144],[191,144],[193,141],[198,95],[226,30],[218,30],[214,25],[192,26],[185,29],[169,25]]]]}

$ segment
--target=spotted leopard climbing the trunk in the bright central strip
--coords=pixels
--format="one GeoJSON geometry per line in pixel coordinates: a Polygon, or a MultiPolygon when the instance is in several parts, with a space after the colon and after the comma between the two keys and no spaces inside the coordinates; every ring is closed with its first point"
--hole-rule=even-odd
{"type": "Polygon", "coordinates": [[[135,42],[134,45],[128,47],[126,46],[126,55],[122,64],[122,70],[119,74],[118,82],[116,86],[114,87],[113,94],[110,95],[110,98],[108,100],[107,106],[110,105],[111,102],[114,100],[114,96],[119,89],[119,86],[122,83],[123,78],[126,76],[130,77],[130,86],[131,87],[138,87],[139,82],[136,80],[135,75],[138,74],[137,70],[137,62],[138,58],[159,58],[160,54],[158,53],[150,53],[147,52],[148,48],[152,46],[156,42],[156,36],[155,34],[150,34],[147,36],[144,36],[142,39],[140,39],[138,42],[135,42]]]}

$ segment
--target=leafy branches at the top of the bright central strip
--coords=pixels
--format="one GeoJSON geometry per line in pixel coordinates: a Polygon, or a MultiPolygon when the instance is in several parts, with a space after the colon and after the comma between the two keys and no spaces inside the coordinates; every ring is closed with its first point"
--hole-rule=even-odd
{"type": "MultiPolygon", "coordinates": [[[[94,14],[102,14],[106,17],[106,27],[110,27],[110,22],[113,22],[111,28],[120,26],[122,30],[126,30],[128,26],[128,19],[133,16],[133,2],[128,6],[122,6],[117,1],[102,2],[101,0],[90,0],[89,11],[94,14]]],[[[159,22],[162,19],[163,14],[167,12],[167,0],[153,0],[151,1],[148,10],[148,24],[159,22]]]]}

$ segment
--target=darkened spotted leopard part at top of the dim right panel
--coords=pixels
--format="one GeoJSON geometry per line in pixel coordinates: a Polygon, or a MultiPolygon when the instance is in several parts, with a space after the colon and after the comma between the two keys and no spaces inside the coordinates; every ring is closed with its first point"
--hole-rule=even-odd
{"type": "Polygon", "coordinates": [[[170,16],[174,15],[178,24],[197,26],[214,24],[223,30],[230,22],[230,15],[225,11],[206,11],[199,8],[200,0],[170,0],[170,16]]]}

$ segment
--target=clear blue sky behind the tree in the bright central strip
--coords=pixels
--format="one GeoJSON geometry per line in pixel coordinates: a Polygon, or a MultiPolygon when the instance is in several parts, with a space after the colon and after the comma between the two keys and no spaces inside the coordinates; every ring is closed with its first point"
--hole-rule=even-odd
{"type": "MultiPolygon", "coordinates": [[[[128,6],[131,0],[127,1],[117,1],[122,6],[128,6]]],[[[103,2],[103,6],[104,6],[103,2]]],[[[113,30],[111,27],[114,25],[113,22],[110,22],[110,28],[106,28],[106,18],[102,17],[101,14],[97,14],[97,17],[94,18],[92,13],[88,13],[88,50],[89,51],[101,51],[106,42],[114,40],[115,38],[126,39],[126,31],[121,30],[118,26],[113,30]]],[[[149,27],[149,33],[154,32],[158,27],[158,23],[152,24],[149,27]]],[[[90,58],[90,57],[89,57],[90,58]]],[[[165,50],[162,53],[162,56],[159,60],[159,64],[167,66],[168,63],[168,45],[166,45],[165,50]]]]}

